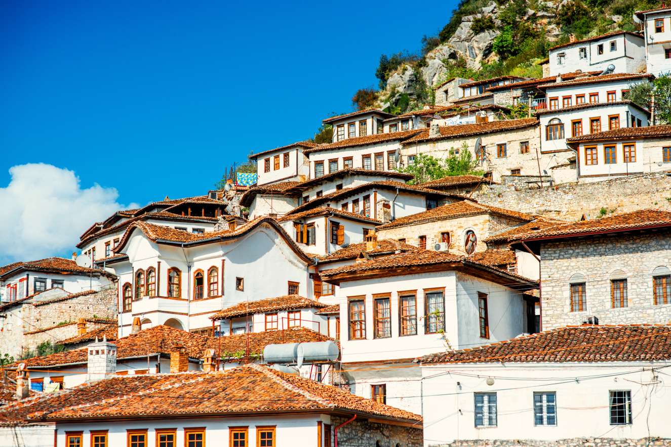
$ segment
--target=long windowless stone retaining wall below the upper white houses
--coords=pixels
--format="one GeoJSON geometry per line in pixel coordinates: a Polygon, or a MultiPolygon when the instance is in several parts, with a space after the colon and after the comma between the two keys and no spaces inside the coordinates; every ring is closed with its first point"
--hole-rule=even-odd
{"type": "Polygon", "coordinates": [[[664,172],[639,174],[625,178],[586,184],[550,186],[545,181],[524,184],[523,178],[503,177],[501,184],[482,184],[472,198],[483,204],[511,210],[578,220],[599,216],[601,208],[607,214],[622,214],[644,208],[671,210],[671,177],[664,172]]]}

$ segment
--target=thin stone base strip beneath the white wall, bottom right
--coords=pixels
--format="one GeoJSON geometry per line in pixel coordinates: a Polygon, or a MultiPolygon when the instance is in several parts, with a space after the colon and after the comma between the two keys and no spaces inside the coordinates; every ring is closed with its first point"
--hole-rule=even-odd
{"type": "Polygon", "coordinates": [[[462,440],[450,442],[450,444],[429,444],[431,447],[639,447],[639,446],[671,446],[671,440],[658,438],[635,439],[613,439],[613,438],[570,438],[556,441],[540,441],[530,439],[515,440],[462,440]]]}

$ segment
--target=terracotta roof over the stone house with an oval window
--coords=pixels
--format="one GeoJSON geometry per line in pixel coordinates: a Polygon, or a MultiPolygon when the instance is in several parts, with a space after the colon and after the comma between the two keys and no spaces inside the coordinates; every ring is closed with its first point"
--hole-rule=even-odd
{"type": "Polygon", "coordinates": [[[476,216],[478,214],[499,214],[501,216],[511,217],[519,220],[533,220],[533,216],[523,212],[506,210],[495,206],[483,205],[470,200],[463,202],[454,202],[442,206],[437,206],[431,210],[410,214],[409,216],[399,217],[393,222],[386,223],[377,227],[378,231],[390,228],[405,227],[406,225],[418,225],[424,222],[435,222],[437,220],[446,220],[464,216],[476,216]]]}

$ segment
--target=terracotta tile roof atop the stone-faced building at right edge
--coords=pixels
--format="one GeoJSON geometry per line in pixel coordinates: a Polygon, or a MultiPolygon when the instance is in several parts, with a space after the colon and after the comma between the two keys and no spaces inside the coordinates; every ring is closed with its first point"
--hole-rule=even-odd
{"type": "Polygon", "coordinates": [[[671,227],[671,212],[662,210],[638,210],[600,219],[554,225],[548,229],[519,235],[522,241],[579,237],[601,233],[617,233],[636,229],[671,227]]]}

